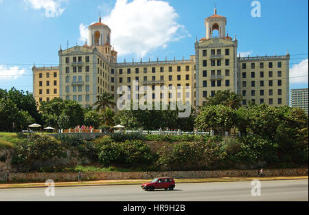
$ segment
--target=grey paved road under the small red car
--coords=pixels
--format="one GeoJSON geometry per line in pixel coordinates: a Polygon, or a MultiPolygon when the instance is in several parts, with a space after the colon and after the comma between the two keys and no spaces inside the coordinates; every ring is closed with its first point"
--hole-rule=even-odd
{"type": "Polygon", "coordinates": [[[1,189],[0,201],[308,201],[308,180],[261,181],[261,196],[251,196],[251,182],[181,183],[174,191],[146,192],[139,185],[1,189]]]}

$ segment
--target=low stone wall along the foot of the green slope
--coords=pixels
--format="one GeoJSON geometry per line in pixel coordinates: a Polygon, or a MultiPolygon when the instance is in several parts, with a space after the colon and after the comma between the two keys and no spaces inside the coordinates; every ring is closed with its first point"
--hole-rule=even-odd
{"type": "MultiPolygon", "coordinates": [[[[84,181],[108,179],[153,179],[155,177],[172,177],[174,179],[198,179],[216,177],[257,177],[258,170],[218,170],[218,171],[173,171],[173,172],[85,172],[84,181]]],[[[307,176],[308,168],[264,170],[265,177],[307,176]]],[[[44,182],[47,179],[54,181],[77,181],[76,173],[8,173],[8,182],[44,182]]]]}

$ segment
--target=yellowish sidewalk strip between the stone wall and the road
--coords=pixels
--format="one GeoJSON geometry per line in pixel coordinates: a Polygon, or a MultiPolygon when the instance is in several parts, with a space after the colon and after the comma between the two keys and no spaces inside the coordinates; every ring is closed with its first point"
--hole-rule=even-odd
{"type": "MultiPolygon", "coordinates": [[[[205,182],[227,182],[227,181],[252,181],[259,179],[260,181],[273,180],[296,180],[308,179],[308,176],[300,177],[222,177],[208,179],[174,179],[176,183],[205,183],[205,182]]],[[[71,186],[95,186],[95,185],[141,185],[151,179],[126,179],[126,180],[100,180],[100,181],[83,181],[82,183],[72,182],[56,182],[56,187],[71,187],[71,186]]],[[[0,189],[5,188],[46,188],[45,183],[0,183],[0,189]]]]}

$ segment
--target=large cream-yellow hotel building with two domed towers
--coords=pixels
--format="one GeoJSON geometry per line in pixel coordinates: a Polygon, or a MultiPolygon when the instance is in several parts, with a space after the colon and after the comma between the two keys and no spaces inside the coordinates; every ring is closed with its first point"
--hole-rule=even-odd
{"type": "MultiPolygon", "coordinates": [[[[101,22],[89,26],[89,44],[76,45],[58,52],[59,67],[33,67],[34,98],[37,102],[60,97],[76,100],[82,106],[91,106],[97,96],[107,92],[115,101],[121,96],[117,89],[133,81],[147,92],[153,100],[181,100],[192,106],[200,106],[218,91],[229,90],[243,96],[243,104],[266,103],[272,106],[289,104],[289,60],[284,56],[237,55],[238,40],[225,34],[227,19],[217,14],[205,19],[206,34],[196,38],[195,54],[181,60],[161,60],[117,63],[117,52],[111,47],[111,29],[101,22]],[[214,36],[216,34],[216,36],[214,36]],[[57,73],[57,85],[47,73],[57,73]],[[41,74],[41,75],[40,75],[41,74]],[[156,87],[183,89],[168,98],[155,92],[156,87]],[[56,90],[55,90],[56,89],[56,90]],[[150,92],[149,92],[150,91],[150,92]],[[47,93],[49,92],[49,93],[47,93]],[[159,97],[159,98],[158,98],[159,97]]],[[[128,96],[128,99],[133,99],[128,96]]],[[[142,95],[136,95],[138,99],[142,95]]],[[[115,107],[117,111],[117,107],[115,107]]]]}

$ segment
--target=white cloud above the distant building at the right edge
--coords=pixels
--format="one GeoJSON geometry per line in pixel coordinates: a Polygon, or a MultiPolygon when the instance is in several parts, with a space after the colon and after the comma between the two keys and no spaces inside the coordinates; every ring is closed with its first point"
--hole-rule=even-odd
{"type": "Polygon", "coordinates": [[[293,65],[290,68],[290,84],[307,83],[308,84],[308,58],[301,63],[293,65]],[[293,78],[297,77],[297,78],[293,78]]]}

